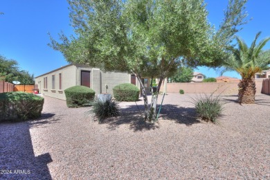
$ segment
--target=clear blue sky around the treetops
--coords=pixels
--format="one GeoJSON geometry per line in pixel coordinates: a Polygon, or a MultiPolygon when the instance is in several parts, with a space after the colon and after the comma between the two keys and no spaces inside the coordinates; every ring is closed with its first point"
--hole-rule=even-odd
{"type": "MultiPolygon", "coordinates": [[[[208,19],[216,27],[222,21],[227,2],[206,0],[208,19]]],[[[34,73],[35,76],[68,64],[60,52],[47,46],[50,42],[47,33],[51,33],[55,39],[61,31],[66,35],[73,33],[69,26],[68,6],[65,0],[1,0],[0,12],[4,12],[4,15],[0,15],[0,54],[17,60],[21,69],[34,73]]],[[[262,31],[260,39],[270,36],[269,7],[269,0],[249,0],[246,4],[249,19],[253,19],[237,35],[248,45],[259,31],[262,31]]],[[[270,49],[270,43],[265,49],[270,49]]],[[[207,77],[215,78],[220,75],[218,71],[207,67],[198,67],[195,71],[204,73],[207,77]]],[[[240,78],[234,72],[224,75],[240,78]]]]}

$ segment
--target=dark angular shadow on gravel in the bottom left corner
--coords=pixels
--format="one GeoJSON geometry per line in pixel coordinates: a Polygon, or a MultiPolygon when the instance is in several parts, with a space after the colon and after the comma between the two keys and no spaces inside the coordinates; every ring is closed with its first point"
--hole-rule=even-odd
{"type": "Polygon", "coordinates": [[[51,155],[35,156],[30,122],[0,124],[0,179],[52,179],[51,155]]]}

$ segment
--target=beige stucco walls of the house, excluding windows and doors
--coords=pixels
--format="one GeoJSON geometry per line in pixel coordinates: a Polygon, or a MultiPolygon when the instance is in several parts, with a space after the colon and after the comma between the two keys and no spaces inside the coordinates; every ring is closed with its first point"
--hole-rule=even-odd
{"type": "MultiPolygon", "coordinates": [[[[66,100],[64,89],[80,85],[81,71],[90,71],[90,88],[93,89],[96,94],[105,93],[106,84],[108,86],[107,93],[113,94],[112,89],[117,84],[131,82],[131,75],[128,73],[103,72],[100,71],[100,69],[92,69],[87,65],[76,64],[41,75],[35,78],[35,84],[38,84],[39,93],[42,93],[44,96],[66,100]],[[59,73],[62,73],[62,90],[59,89],[59,73]],[[55,75],[55,89],[52,89],[52,75],[55,75]],[[47,89],[44,89],[44,77],[47,77],[47,89]]],[[[136,83],[138,83],[137,80],[136,83]]]]}

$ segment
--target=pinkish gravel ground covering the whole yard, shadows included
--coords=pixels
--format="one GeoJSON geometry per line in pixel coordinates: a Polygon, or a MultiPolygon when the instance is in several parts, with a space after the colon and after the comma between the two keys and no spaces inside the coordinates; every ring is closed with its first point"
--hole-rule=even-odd
{"type": "Polygon", "coordinates": [[[166,95],[154,125],[142,100],[98,123],[89,108],[45,97],[39,120],[0,124],[0,179],[270,179],[270,96],[222,96],[216,125],[195,117],[191,97],[166,95]]]}

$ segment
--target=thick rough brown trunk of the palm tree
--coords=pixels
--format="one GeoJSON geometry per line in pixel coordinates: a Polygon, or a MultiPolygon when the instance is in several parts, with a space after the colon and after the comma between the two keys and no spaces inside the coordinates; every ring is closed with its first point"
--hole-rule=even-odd
{"type": "Polygon", "coordinates": [[[254,104],[256,87],[251,79],[242,79],[239,84],[238,101],[240,104],[254,104]]]}

